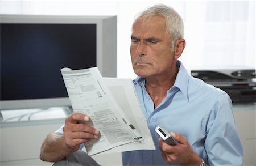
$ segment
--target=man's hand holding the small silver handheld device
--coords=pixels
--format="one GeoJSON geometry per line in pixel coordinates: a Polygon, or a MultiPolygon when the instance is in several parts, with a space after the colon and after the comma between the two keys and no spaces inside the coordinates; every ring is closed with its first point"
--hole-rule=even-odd
{"type": "Polygon", "coordinates": [[[163,160],[166,163],[176,163],[180,165],[200,165],[201,159],[192,150],[187,139],[179,133],[172,133],[171,135],[178,142],[177,145],[170,145],[159,139],[159,149],[163,160]]]}

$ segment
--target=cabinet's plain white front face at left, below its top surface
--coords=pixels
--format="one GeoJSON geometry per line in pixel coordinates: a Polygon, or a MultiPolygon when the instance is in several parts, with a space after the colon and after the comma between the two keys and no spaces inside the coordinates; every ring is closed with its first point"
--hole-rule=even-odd
{"type": "Polygon", "coordinates": [[[0,165],[52,165],[39,159],[46,135],[62,124],[2,127],[0,165]]]}

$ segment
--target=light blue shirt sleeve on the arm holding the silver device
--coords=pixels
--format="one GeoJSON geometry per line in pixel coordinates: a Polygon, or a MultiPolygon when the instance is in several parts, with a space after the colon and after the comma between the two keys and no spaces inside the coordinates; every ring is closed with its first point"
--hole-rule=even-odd
{"type": "Polygon", "coordinates": [[[205,150],[209,165],[242,165],[243,149],[234,121],[232,101],[227,94],[218,96],[209,112],[205,150]]]}

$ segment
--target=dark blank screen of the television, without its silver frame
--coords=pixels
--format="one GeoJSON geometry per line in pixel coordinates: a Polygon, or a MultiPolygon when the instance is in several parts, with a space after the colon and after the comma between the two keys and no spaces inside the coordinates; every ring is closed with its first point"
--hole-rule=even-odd
{"type": "Polygon", "coordinates": [[[96,66],[96,24],[1,23],[0,100],[67,97],[62,67],[96,66]]]}

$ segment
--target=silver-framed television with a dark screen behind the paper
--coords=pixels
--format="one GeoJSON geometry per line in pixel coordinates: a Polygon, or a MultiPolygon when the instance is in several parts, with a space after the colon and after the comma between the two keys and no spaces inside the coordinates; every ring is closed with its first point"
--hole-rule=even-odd
{"type": "Polygon", "coordinates": [[[70,106],[62,67],[116,76],[117,16],[0,16],[0,110],[70,106]]]}

